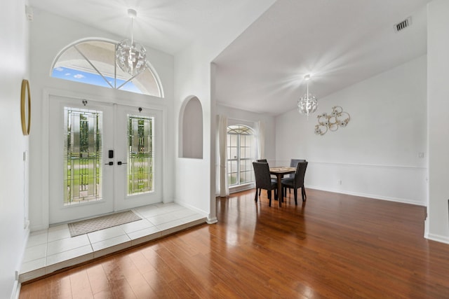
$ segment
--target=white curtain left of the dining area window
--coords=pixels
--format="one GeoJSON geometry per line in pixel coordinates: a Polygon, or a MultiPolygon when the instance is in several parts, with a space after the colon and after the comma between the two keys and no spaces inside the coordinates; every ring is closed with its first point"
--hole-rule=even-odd
{"type": "Polygon", "coordinates": [[[217,161],[215,162],[216,182],[215,193],[217,196],[226,197],[229,195],[227,184],[227,116],[217,118],[217,161]]]}

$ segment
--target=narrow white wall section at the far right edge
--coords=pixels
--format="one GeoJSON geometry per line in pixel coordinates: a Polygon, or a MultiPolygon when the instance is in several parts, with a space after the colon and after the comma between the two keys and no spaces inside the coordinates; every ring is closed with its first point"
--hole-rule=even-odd
{"type": "Polygon", "coordinates": [[[426,236],[449,243],[449,1],[427,7],[429,203],[426,236]]]}

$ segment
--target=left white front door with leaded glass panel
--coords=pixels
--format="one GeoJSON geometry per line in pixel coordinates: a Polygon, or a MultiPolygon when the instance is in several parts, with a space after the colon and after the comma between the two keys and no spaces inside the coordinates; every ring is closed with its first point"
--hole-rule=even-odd
{"type": "Polygon", "coordinates": [[[50,96],[48,112],[50,223],[114,211],[113,106],[50,96]]]}

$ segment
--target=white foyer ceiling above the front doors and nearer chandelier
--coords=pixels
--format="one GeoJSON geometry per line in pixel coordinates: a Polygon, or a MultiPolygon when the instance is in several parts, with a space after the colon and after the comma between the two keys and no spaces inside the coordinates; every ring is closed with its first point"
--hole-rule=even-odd
{"type": "Polygon", "coordinates": [[[257,0],[29,0],[29,5],[130,38],[128,9],[137,11],[134,39],[175,54],[194,39],[232,20],[257,0]]]}

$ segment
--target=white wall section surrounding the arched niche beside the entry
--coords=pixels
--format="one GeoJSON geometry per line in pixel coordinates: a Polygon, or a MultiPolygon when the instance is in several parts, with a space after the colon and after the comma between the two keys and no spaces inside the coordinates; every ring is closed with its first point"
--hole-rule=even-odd
{"type": "MultiPolygon", "coordinates": [[[[176,202],[215,217],[215,71],[211,62],[244,29],[274,3],[274,0],[241,1],[241,11],[224,22],[213,35],[201,36],[189,47],[175,55],[175,114],[182,103],[198,97],[203,107],[203,159],[176,160],[176,202]]],[[[179,120],[176,120],[179,121],[179,120]]],[[[176,124],[178,127],[178,123],[176,124]]],[[[176,136],[175,140],[179,140],[176,136]]],[[[176,144],[179,146],[179,144],[176,144]]]]}

